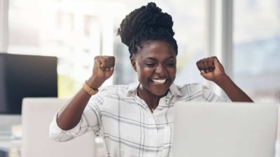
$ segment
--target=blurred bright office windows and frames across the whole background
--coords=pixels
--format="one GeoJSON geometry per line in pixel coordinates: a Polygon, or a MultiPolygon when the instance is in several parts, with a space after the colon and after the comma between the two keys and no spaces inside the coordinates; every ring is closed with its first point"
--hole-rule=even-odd
{"type": "MultiPolygon", "coordinates": [[[[280,0],[155,1],[172,15],[179,44],[177,84],[200,82],[195,62],[218,56],[256,102],[280,102],[280,0]]],[[[121,20],[146,0],[1,0],[0,51],[58,57],[58,96],[69,98],[90,76],[94,56],[116,56],[106,84],[136,82],[116,36],[121,20]]]]}

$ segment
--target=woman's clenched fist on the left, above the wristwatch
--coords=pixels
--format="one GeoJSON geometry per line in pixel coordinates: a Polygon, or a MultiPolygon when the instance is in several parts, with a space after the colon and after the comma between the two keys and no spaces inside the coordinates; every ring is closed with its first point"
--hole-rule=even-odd
{"type": "Polygon", "coordinates": [[[97,56],[94,57],[94,66],[92,69],[92,77],[95,81],[103,84],[113,74],[115,66],[115,57],[113,56],[97,56]]]}

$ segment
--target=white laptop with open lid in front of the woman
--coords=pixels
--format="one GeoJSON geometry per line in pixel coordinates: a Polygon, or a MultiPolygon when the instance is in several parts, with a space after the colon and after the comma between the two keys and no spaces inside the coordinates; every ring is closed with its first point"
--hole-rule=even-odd
{"type": "Polygon", "coordinates": [[[174,157],[274,157],[278,105],[176,103],[174,157]]]}

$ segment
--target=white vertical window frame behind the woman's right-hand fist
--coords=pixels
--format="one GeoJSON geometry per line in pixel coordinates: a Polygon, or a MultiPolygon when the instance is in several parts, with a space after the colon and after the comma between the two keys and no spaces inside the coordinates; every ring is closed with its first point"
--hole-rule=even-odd
{"type": "MultiPolygon", "coordinates": [[[[216,56],[227,75],[233,76],[233,0],[207,1],[207,56],[216,56]]],[[[226,96],[220,87],[209,82],[216,94],[226,96]]]]}

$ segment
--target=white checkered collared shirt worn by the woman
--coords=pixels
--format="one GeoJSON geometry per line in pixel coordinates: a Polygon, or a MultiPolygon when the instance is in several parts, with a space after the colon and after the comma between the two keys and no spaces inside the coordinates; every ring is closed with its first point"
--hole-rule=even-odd
{"type": "Polygon", "coordinates": [[[113,85],[100,89],[88,102],[75,128],[60,129],[55,115],[50,124],[50,136],[62,142],[94,130],[104,137],[106,156],[171,156],[174,103],[181,100],[230,101],[201,84],[172,84],[152,113],[144,100],[137,96],[138,86],[113,85]]]}

